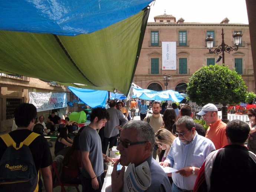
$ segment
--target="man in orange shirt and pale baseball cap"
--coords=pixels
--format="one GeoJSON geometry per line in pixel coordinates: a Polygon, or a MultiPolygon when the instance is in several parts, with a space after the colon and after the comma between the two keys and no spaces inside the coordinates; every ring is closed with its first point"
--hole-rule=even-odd
{"type": "Polygon", "coordinates": [[[197,115],[201,115],[203,120],[205,120],[207,125],[209,125],[205,137],[214,143],[216,149],[220,149],[228,144],[227,137],[225,135],[227,125],[219,119],[218,109],[215,105],[208,103],[203,106],[197,115]]]}

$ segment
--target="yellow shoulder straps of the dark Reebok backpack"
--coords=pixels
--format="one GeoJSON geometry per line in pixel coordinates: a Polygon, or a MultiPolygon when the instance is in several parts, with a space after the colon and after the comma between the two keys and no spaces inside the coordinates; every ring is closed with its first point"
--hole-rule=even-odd
{"type": "MultiPolygon", "coordinates": [[[[37,134],[37,133],[34,133],[34,132],[30,133],[30,135],[23,142],[20,142],[19,148],[21,148],[23,146],[23,144],[29,146],[30,143],[32,143],[32,141],[34,139],[36,139],[38,136],[39,136],[39,134],[37,134]]],[[[1,135],[0,137],[3,139],[3,141],[7,147],[13,146],[16,150],[19,149],[16,147],[16,142],[9,135],[9,133],[1,135]]]]}

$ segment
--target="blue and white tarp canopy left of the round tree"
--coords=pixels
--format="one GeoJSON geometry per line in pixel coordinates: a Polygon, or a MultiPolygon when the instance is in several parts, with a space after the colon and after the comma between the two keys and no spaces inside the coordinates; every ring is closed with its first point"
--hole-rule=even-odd
{"type": "Polygon", "coordinates": [[[133,98],[140,98],[145,100],[172,100],[174,102],[181,102],[184,97],[180,95],[179,92],[174,90],[165,90],[165,91],[153,91],[149,89],[140,89],[133,87],[133,98]]]}

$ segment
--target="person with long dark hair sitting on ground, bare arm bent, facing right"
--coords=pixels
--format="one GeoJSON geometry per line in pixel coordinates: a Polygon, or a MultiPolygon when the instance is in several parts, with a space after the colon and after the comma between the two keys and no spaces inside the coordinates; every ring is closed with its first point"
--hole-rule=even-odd
{"type": "Polygon", "coordinates": [[[54,155],[65,155],[66,147],[71,147],[73,141],[68,138],[68,129],[66,127],[60,128],[59,136],[55,142],[54,155]]]}

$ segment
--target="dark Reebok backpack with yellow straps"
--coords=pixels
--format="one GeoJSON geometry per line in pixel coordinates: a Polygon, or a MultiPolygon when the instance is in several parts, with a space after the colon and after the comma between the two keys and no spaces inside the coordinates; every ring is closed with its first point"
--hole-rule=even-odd
{"type": "Polygon", "coordinates": [[[38,191],[39,173],[29,149],[30,143],[38,136],[31,133],[21,143],[15,143],[8,133],[0,136],[7,146],[0,160],[0,191],[38,191]]]}

